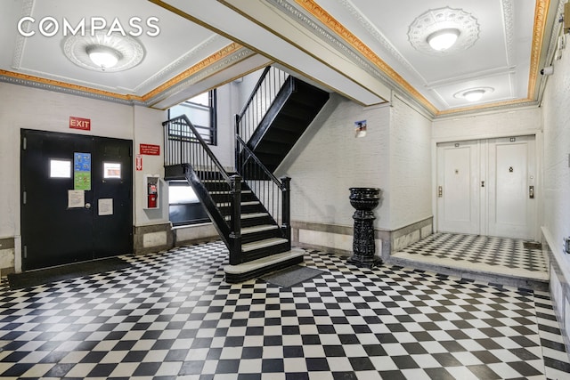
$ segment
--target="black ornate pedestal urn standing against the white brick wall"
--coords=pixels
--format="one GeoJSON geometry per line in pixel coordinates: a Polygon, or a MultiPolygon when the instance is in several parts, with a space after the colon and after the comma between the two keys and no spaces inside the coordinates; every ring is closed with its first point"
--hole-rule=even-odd
{"type": "Polygon", "coordinates": [[[374,213],[379,205],[380,190],[378,188],[350,188],[350,204],[356,209],[354,219],[353,255],[348,263],[359,267],[372,268],[382,263],[376,254],[374,241],[374,213]]]}

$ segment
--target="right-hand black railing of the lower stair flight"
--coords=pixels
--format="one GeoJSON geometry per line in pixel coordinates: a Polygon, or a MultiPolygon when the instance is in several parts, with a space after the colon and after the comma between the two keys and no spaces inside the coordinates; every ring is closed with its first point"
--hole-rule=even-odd
{"type": "Polygon", "coordinates": [[[278,180],[236,135],[236,171],[256,194],[265,210],[281,229],[283,238],[291,241],[290,226],[290,181],[289,177],[278,180]]]}

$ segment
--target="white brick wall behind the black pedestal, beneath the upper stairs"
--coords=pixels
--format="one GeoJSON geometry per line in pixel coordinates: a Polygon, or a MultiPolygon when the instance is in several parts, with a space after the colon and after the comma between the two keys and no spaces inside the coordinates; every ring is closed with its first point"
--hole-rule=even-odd
{"type": "Polygon", "coordinates": [[[377,228],[389,228],[389,121],[387,106],[365,109],[336,94],[291,150],[278,176],[291,180],[291,220],[352,226],[351,187],[384,190],[376,208],[377,228]],[[354,137],[354,122],[367,120],[365,137],[354,137]]]}

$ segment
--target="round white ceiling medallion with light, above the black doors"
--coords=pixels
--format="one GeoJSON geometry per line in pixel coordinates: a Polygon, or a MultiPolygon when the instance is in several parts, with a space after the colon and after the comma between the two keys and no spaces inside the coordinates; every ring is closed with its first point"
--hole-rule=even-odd
{"type": "Polygon", "coordinates": [[[106,30],[85,33],[85,36],[68,36],[63,41],[63,53],[77,66],[102,72],[117,72],[134,68],[141,63],[144,49],[132,36],[123,36],[117,33],[107,35],[106,30]],[[94,61],[94,53],[106,51],[115,56],[113,65],[94,61]]]}

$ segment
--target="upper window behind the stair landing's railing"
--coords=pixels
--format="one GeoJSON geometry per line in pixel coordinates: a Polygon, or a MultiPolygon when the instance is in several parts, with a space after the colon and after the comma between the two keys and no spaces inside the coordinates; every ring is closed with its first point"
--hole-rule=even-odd
{"type": "MultiPolygon", "coordinates": [[[[217,128],[216,128],[216,90],[200,93],[193,98],[183,101],[177,106],[168,109],[168,118],[175,118],[186,115],[191,124],[196,127],[199,135],[209,145],[217,144],[217,128]]],[[[168,136],[170,140],[191,141],[192,135],[190,130],[175,129],[168,136]]]]}

